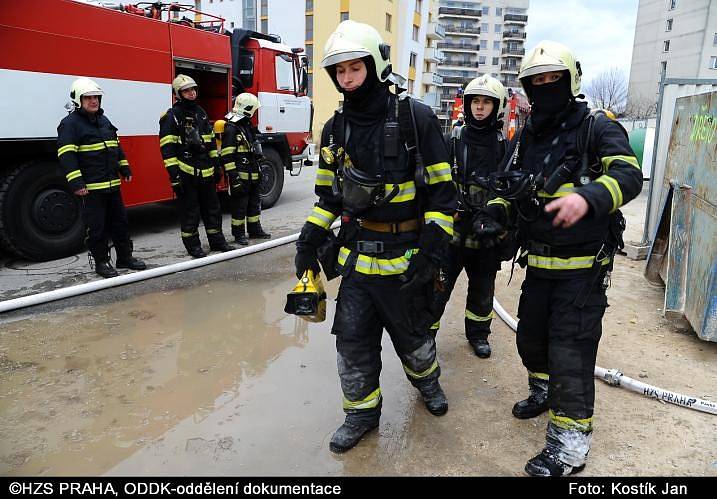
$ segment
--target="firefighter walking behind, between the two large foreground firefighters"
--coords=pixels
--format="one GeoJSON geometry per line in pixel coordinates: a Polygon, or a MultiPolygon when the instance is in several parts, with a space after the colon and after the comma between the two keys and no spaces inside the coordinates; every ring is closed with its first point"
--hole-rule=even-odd
{"type": "MultiPolygon", "coordinates": [[[[466,124],[453,131],[449,144],[460,203],[454,222],[445,289],[438,296],[437,319],[445,310],[456,279],[465,269],[468,276],[466,339],[475,354],[485,359],[491,354],[488,335],[493,319],[495,276],[500,269],[496,246],[501,241],[499,234],[482,233],[481,238],[477,237],[473,225],[485,216],[483,210],[495,209],[488,205],[487,179],[497,170],[505,154],[501,119],[507,98],[505,87],[487,74],[471,80],[463,95],[466,124]]],[[[438,326],[437,321],[433,325],[436,333],[438,326]]]]}

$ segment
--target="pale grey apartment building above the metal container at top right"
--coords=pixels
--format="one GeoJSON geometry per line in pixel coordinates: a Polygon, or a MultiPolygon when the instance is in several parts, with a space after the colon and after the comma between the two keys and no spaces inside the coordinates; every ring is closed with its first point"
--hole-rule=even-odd
{"type": "Polygon", "coordinates": [[[628,102],[657,102],[663,70],[667,78],[717,78],[717,2],[639,1],[628,102]]]}

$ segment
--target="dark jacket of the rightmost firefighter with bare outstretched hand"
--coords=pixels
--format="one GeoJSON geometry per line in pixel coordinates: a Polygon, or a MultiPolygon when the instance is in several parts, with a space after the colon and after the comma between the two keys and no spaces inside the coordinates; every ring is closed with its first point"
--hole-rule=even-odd
{"type": "MultiPolygon", "coordinates": [[[[591,167],[583,172],[587,173],[583,177],[589,177],[589,183],[582,185],[586,179],[576,175],[563,182],[552,195],[539,191],[539,206],[534,211],[537,219],[520,219],[521,255],[527,257],[529,270],[542,277],[570,278],[584,274],[593,268],[596,260],[600,265],[610,265],[610,258],[604,258],[603,245],[610,242],[615,214],[642,189],[640,166],[618,122],[602,113],[596,114],[592,136],[581,137],[578,145],[579,135],[586,131],[584,123],[588,114],[586,103],[575,102],[563,114],[561,123],[547,130],[536,132],[529,120],[509,148],[511,155],[515,142],[520,139],[517,159],[511,169],[542,172],[546,179],[561,165],[581,161],[582,152],[588,148],[591,167]],[[546,213],[545,204],[573,192],[588,202],[588,213],[569,228],[554,227],[557,212],[546,213]]],[[[579,172],[580,168],[574,167],[572,171],[579,172]]],[[[491,203],[501,201],[496,199],[491,203]]]]}

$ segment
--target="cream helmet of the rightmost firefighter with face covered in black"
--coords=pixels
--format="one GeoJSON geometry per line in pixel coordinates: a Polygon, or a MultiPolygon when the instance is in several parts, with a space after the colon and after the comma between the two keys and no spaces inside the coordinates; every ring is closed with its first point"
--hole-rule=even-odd
{"type": "Polygon", "coordinates": [[[570,73],[570,91],[573,97],[580,95],[580,77],[583,74],[580,62],[575,59],[570,49],[561,43],[548,40],[538,43],[523,59],[518,79],[526,93],[529,93],[530,81],[526,78],[549,71],[570,73]]]}

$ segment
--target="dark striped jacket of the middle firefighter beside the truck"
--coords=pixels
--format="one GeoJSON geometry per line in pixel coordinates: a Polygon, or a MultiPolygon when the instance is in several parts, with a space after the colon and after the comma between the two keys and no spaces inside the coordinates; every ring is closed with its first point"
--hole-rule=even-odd
{"type": "Polygon", "coordinates": [[[159,147],[172,185],[179,172],[203,182],[214,182],[218,153],[214,130],[204,109],[178,101],[159,119],[159,147]]]}

